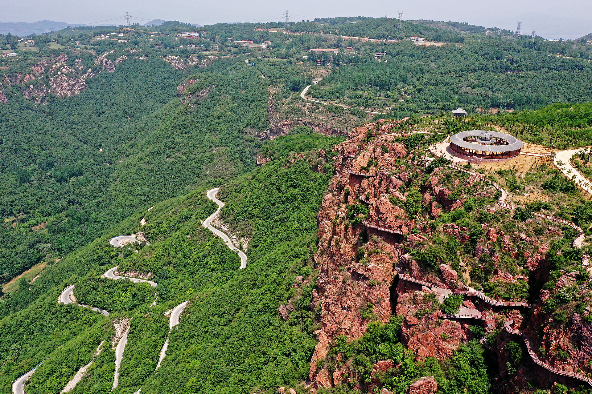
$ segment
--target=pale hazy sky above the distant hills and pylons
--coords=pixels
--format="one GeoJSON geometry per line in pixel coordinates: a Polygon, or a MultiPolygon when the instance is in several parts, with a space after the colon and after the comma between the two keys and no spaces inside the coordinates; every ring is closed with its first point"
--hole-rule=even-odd
{"type": "MultiPolygon", "coordinates": [[[[27,2],[5,2],[2,6],[2,22],[35,22],[52,20],[72,24],[95,24],[107,19],[118,18],[129,12],[144,23],[152,19],[213,24],[217,22],[266,22],[281,20],[281,14],[288,9],[292,20],[318,17],[339,17],[363,15],[367,17],[397,17],[403,19],[432,19],[440,21],[462,21],[485,27],[516,29],[517,17],[530,19],[522,21],[522,30],[530,34],[532,29],[548,31],[546,35],[584,35],[592,32],[592,6],[589,0],[423,0],[421,2],[375,1],[313,1],[278,2],[272,0],[224,2],[181,1],[181,0],[101,0],[81,2],[79,0],[30,0],[27,2]],[[223,5],[223,6],[221,6],[223,5]],[[526,15],[525,15],[526,14],[526,15]],[[538,14],[538,15],[537,15],[538,14]],[[547,14],[541,16],[540,14],[547,14]],[[530,15],[530,18],[529,18],[530,15]],[[559,18],[557,18],[559,17],[559,18]],[[565,19],[572,18],[572,19],[565,19]],[[573,20],[576,19],[576,20],[573,20]]],[[[110,21],[120,24],[121,20],[110,21]]],[[[107,24],[108,22],[103,22],[107,24]]],[[[575,38],[575,37],[574,37],[575,38]]]]}

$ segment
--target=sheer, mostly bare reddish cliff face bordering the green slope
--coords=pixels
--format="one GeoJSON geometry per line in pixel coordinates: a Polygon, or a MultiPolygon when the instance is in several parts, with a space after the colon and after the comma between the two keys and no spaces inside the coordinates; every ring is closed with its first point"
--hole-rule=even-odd
{"type": "MultiPolygon", "coordinates": [[[[401,263],[427,276],[403,250],[401,242],[404,237],[411,245],[422,242],[424,236],[412,233],[430,232],[423,217],[410,217],[402,208],[408,198],[404,184],[422,173],[418,162],[408,158],[404,144],[394,141],[406,135],[404,131],[401,121],[366,123],[334,148],[340,153],[337,175],[318,213],[315,259],[319,276],[313,307],[321,311],[322,330],[317,333],[319,343],[311,360],[314,387],[338,384],[329,372],[316,367],[316,361],[326,356],[332,338],[345,335],[354,340],[366,332],[371,321],[387,323],[392,314],[406,317],[403,341],[420,358],[450,357],[461,341],[470,339],[458,322],[435,324],[437,308],[431,310],[430,305],[423,305],[421,285],[403,281],[394,284],[394,266],[401,263]],[[358,203],[368,208],[368,214],[348,213],[358,203]],[[431,311],[416,318],[421,305],[431,311]]],[[[429,183],[424,198],[444,210],[462,206],[462,200],[449,201],[452,192],[437,185],[429,183]]],[[[456,272],[451,268],[445,272],[449,275],[434,276],[432,280],[445,288],[455,287],[456,272]]]]}

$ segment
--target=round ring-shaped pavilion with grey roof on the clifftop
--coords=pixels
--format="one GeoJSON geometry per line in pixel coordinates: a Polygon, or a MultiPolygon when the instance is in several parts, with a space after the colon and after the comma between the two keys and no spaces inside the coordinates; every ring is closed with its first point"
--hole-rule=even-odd
{"type": "Polygon", "coordinates": [[[523,142],[497,131],[469,130],[450,137],[451,154],[472,160],[505,161],[520,154],[523,142]]]}

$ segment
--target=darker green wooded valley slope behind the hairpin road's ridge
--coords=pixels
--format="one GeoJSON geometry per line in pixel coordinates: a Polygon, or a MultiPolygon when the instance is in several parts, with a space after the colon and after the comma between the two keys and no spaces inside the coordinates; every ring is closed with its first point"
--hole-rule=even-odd
{"type": "Polygon", "coordinates": [[[195,105],[176,97],[189,72],[154,56],[124,61],[68,99],[0,106],[5,282],[139,207],[252,170],[259,141],[245,128],[267,126],[266,83],[244,62],[220,63],[191,76],[208,80],[195,105]]]}

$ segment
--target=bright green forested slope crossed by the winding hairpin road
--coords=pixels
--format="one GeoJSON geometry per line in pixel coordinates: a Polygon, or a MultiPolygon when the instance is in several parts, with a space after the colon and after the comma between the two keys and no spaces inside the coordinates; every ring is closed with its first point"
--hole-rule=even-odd
{"type": "MultiPolygon", "coordinates": [[[[159,393],[250,392],[303,379],[316,344],[310,311],[316,212],[332,177],[332,171],[323,172],[326,166],[317,167],[317,151],[330,151],[337,142],[316,133],[276,139],[266,149],[272,161],[223,189],[228,207],[250,212],[243,220],[254,223],[246,269],[239,271],[236,253],[201,226],[215,210],[203,189],[144,209],[113,230],[141,230],[150,245],[139,253],[124,250],[125,257],[118,257],[121,249],[102,236],[50,266],[30,291],[22,289],[23,297],[28,294],[22,302],[31,304],[0,321],[6,357],[2,392],[8,393],[13,380],[43,361],[27,392],[58,393],[91,360],[98,343],[111,340],[111,321],[121,317],[132,319],[117,392],[133,393],[140,387],[159,393]],[[287,191],[289,198],[275,198],[287,191]],[[146,219],[145,226],[140,219],[146,219]],[[148,293],[141,296],[150,291],[149,285],[100,278],[115,265],[122,271],[154,273],[159,285],[155,307],[149,307],[153,298],[148,293]],[[295,279],[299,275],[303,281],[295,279]],[[59,293],[72,283],[79,302],[101,305],[111,315],[57,304],[59,293]],[[168,356],[154,372],[166,337],[163,314],[186,299],[189,306],[170,336],[168,356]],[[284,321],[278,307],[289,299],[294,311],[284,321]],[[59,336],[55,327],[62,327],[59,336]]],[[[101,353],[72,392],[108,392],[113,357],[111,350],[101,353]]]]}

